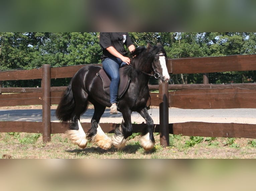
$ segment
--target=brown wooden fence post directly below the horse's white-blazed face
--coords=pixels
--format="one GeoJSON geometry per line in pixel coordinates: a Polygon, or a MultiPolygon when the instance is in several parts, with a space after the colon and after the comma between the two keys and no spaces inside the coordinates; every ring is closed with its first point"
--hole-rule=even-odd
{"type": "Polygon", "coordinates": [[[169,146],[169,93],[167,82],[159,85],[159,94],[160,145],[166,147],[169,146]]]}

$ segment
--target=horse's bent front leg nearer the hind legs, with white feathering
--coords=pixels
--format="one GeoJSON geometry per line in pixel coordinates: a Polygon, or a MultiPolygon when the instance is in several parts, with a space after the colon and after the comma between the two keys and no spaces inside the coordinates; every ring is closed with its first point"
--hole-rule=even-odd
{"type": "Polygon", "coordinates": [[[131,111],[123,111],[123,121],[119,127],[115,128],[115,134],[112,137],[112,144],[118,150],[125,147],[128,137],[132,135],[131,111]]]}

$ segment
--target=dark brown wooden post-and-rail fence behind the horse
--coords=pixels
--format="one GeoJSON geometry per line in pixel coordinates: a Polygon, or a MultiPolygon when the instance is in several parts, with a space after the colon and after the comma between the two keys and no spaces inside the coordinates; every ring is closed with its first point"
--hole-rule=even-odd
{"type": "MultiPolygon", "coordinates": [[[[151,104],[159,106],[159,121],[155,132],[160,132],[160,143],[169,144],[169,133],[189,136],[246,137],[256,138],[256,124],[207,123],[207,122],[168,122],[168,107],[179,108],[256,108],[256,84],[208,84],[207,73],[226,71],[256,70],[256,55],[235,55],[225,57],[204,57],[169,59],[167,68],[172,74],[204,74],[204,84],[149,86],[151,104]],[[175,90],[168,92],[168,90],[175,90]]],[[[41,79],[41,88],[1,88],[1,93],[19,93],[0,95],[0,107],[15,105],[41,104],[42,122],[0,121],[0,132],[36,132],[42,133],[43,142],[50,141],[51,133],[63,133],[66,123],[50,121],[50,105],[58,104],[66,87],[50,87],[50,79],[69,78],[83,65],[52,68],[43,65],[32,70],[0,72],[0,82],[7,80],[41,79]]],[[[101,123],[104,132],[113,133],[115,123],[101,123]]],[[[134,132],[141,132],[145,124],[133,124],[134,132]]],[[[85,130],[90,123],[82,123],[85,130]]]]}

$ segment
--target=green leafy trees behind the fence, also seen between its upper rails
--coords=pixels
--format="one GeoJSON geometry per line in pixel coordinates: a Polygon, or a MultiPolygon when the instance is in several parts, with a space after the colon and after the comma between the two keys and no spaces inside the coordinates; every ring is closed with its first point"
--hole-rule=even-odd
{"type": "MultiPolygon", "coordinates": [[[[167,57],[207,57],[255,54],[255,32],[131,32],[135,46],[164,46],[167,57]]],[[[101,63],[96,32],[1,32],[0,70],[32,69],[101,63]]],[[[202,74],[170,75],[174,84],[202,83],[202,74]]],[[[70,79],[57,79],[54,86],[67,86],[70,79]]],[[[209,83],[254,83],[254,71],[210,73],[209,83]]],[[[158,81],[150,79],[150,84],[158,81]]],[[[3,87],[40,87],[40,80],[5,81],[3,87]]]]}

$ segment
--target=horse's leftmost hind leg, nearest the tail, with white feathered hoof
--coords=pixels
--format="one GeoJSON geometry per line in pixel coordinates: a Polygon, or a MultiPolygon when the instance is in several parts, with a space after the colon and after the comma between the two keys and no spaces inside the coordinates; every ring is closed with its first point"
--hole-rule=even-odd
{"type": "Polygon", "coordinates": [[[70,129],[65,132],[73,144],[78,145],[80,148],[85,148],[88,142],[87,135],[80,123],[80,115],[87,109],[88,100],[87,94],[76,94],[75,96],[75,110],[73,112],[72,122],[70,129]]]}

